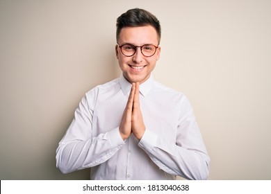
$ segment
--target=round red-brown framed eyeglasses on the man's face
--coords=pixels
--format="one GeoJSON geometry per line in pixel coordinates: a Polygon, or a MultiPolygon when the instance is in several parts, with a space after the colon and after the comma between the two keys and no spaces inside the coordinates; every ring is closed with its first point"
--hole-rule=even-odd
{"type": "MultiPolygon", "coordinates": [[[[117,44],[120,46],[119,44],[117,44]]],[[[136,53],[136,49],[140,48],[142,55],[149,58],[156,53],[156,49],[158,46],[154,46],[153,44],[144,44],[143,46],[135,46],[133,44],[122,44],[120,46],[120,51],[126,57],[131,57],[136,53]]]]}

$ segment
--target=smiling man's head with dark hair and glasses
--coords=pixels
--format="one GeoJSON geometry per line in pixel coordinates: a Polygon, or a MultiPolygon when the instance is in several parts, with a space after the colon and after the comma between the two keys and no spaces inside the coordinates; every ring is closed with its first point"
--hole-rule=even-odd
{"type": "Polygon", "coordinates": [[[120,69],[129,82],[145,82],[160,57],[161,27],[158,19],[142,9],[128,10],[117,18],[120,69]]]}

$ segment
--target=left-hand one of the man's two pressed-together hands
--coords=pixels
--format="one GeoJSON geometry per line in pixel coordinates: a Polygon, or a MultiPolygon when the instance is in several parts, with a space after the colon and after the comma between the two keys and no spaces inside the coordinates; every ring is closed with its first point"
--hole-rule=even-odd
{"type": "Polygon", "coordinates": [[[130,95],[122,114],[122,121],[120,122],[120,136],[122,139],[127,139],[132,132],[132,111],[133,111],[133,98],[135,96],[136,85],[133,83],[130,95]]]}

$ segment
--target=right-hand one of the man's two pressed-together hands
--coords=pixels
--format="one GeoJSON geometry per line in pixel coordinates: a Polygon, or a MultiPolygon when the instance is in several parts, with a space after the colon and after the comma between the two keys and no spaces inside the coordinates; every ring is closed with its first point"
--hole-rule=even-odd
{"type": "Polygon", "coordinates": [[[132,112],[132,132],[138,140],[140,140],[145,133],[145,124],[140,110],[139,100],[139,83],[136,82],[135,94],[133,97],[133,112],[132,112]]]}

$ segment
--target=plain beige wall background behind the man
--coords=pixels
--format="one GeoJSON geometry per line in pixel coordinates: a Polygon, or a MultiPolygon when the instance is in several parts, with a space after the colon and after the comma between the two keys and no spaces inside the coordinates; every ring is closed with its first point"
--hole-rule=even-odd
{"type": "Polygon", "coordinates": [[[160,19],[159,82],[192,103],[209,179],[271,179],[271,1],[0,0],[0,179],[62,175],[55,152],[86,91],[120,76],[115,20],[160,19]]]}

